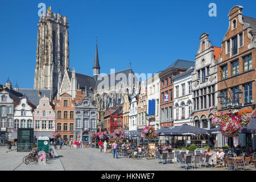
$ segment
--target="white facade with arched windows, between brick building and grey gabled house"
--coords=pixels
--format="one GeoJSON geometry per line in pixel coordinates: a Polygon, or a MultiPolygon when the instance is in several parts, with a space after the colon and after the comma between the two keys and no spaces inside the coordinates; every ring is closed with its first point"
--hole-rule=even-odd
{"type": "Polygon", "coordinates": [[[191,113],[193,109],[192,99],[192,75],[194,67],[172,78],[174,83],[174,127],[183,124],[193,125],[191,113]]]}

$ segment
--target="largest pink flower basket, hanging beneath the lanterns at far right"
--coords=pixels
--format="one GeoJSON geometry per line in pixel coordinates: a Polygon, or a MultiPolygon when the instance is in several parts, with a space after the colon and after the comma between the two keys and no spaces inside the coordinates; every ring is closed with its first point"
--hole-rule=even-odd
{"type": "Polygon", "coordinates": [[[223,135],[233,137],[237,133],[241,133],[242,127],[247,127],[250,124],[250,116],[243,112],[214,114],[212,124],[220,126],[223,135]]]}

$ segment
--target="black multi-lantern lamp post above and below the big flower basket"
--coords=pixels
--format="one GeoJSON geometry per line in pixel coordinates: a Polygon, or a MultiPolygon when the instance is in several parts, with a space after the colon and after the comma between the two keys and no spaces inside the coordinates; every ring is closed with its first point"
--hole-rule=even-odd
{"type": "MultiPolygon", "coordinates": [[[[230,94],[231,97],[228,97],[220,93],[217,96],[218,102],[220,102],[221,105],[226,104],[226,106],[229,109],[229,114],[231,114],[232,109],[242,108],[242,104],[239,103],[240,98],[242,98],[242,93],[243,93],[242,90],[236,89],[236,91],[233,94],[233,98],[231,94],[230,94]],[[230,98],[231,98],[231,101],[230,101],[230,98]]],[[[231,145],[232,145],[232,137],[229,137],[229,149],[231,149],[231,145]]]]}

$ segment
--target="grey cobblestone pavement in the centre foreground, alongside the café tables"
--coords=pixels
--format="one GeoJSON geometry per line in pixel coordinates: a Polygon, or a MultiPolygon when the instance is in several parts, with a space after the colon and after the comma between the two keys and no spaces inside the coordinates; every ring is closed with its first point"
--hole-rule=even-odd
{"type": "MultiPolygon", "coordinates": [[[[156,163],[155,159],[129,159],[119,156],[118,159],[113,159],[112,153],[100,153],[97,148],[80,148],[78,150],[70,150],[63,148],[57,151],[63,163],[65,170],[94,170],[94,171],[185,171],[185,169],[178,168],[178,164],[162,164],[156,163]]],[[[192,169],[188,169],[191,171],[192,169]]],[[[193,169],[194,170],[194,169],[193,169]]],[[[197,168],[197,171],[223,171],[221,168],[197,168]]]]}

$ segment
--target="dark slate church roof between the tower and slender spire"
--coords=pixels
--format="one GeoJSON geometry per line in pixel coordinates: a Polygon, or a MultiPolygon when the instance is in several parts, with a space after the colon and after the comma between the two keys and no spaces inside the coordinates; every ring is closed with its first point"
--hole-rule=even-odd
{"type": "MultiPolygon", "coordinates": [[[[68,71],[68,76],[69,78],[72,78],[72,72],[68,71]]],[[[93,92],[95,88],[95,80],[93,77],[76,73],[76,79],[77,79],[77,88],[85,90],[85,86],[86,86],[86,92],[93,92]]]]}

